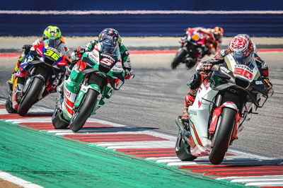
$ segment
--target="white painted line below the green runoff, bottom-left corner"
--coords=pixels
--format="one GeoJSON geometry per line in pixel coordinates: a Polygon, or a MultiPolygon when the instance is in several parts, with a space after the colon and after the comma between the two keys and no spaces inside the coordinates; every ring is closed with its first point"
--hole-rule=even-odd
{"type": "Polygon", "coordinates": [[[6,180],[8,182],[12,182],[13,184],[18,184],[21,187],[25,188],[43,188],[37,184],[33,184],[32,182],[25,181],[19,177],[10,175],[7,172],[0,171],[0,179],[6,180]]]}

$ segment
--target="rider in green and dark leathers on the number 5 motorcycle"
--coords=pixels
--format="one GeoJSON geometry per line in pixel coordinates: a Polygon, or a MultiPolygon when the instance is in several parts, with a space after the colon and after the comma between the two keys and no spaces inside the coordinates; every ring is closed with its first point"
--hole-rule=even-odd
{"type": "MultiPolygon", "coordinates": [[[[122,58],[122,68],[125,70],[125,79],[129,79],[131,77],[134,78],[134,72],[132,71],[132,65],[131,65],[131,61],[129,59],[129,52],[127,51],[127,48],[125,47],[125,45],[122,44],[121,42],[121,37],[119,35],[119,33],[117,32],[117,30],[113,29],[113,28],[105,28],[104,30],[102,30],[100,32],[100,34],[98,35],[98,40],[92,40],[91,42],[88,42],[88,44],[84,45],[83,47],[77,47],[74,52],[72,53],[71,56],[71,64],[67,69],[67,76],[65,77],[65,81],[62,82],[62,84],[59,86],[59,100],[61,100],[63,98],[63,84],[65,83],[65,86],[68,87],[72,87],[72,90],[77,90],[79,89],[79,83],[81,83],[81,80],[83,79],[83,76],[79,76],[80,74],[82,74],[81,72],[78,72],[76,69],[78,68],[78,66],[76,65],[77,62],[80,61],[82,55],[84,52],[91,52],[93,50],[98,50],[96,49],[96,45],[99,42],[103,42],[105,40],[111,40],[112,41],[112,45],[113,48],[118,47],[119,51],[120,51],[120,55],[122,58]],[[74,69],[73,69],[74,67],[74,69]]],[[[81,70],[81,69],[80,69],[81,70]]],[[[112,89],[111,87],[106,86],[106,92],[104,93],[104,95],[102,96],[102,99],[100,100],[99,103],[99,107],[104,105],[104,98],[110,98],[113,93],[114,93],[114,89],[112,89]]]]}

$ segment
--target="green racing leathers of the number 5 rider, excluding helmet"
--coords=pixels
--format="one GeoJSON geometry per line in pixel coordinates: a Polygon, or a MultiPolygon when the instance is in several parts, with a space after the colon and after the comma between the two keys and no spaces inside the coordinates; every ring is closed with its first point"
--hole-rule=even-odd
{"type": "MultiPolygon", "coordinates": [[[[88,42],[87,45],[83,47],[77,47],[74,50],[74,53],[72,54],[72,63],[69,66],[69,76],[66,76],[64,84],[65,87],[70,90],[71,92],[74,92],[77,94],[79,92],[79,86],[81,81],[83,80],[83,76],[85,74],[81,73],[81,67],[79,67],[80,59],[82,57],[82,54],[84,52],[91,52],[94,49],[96,49],[96,46],[98,45],[98,40],[92,40],[91,42],[88,42]],[[80,71],[79,71],[80,69],[80,71]]],[[[122,68],[125,70],[125,79],[129,79],[131,77],[134,77],[134,72],[132,71],[131,62],[129,60],[129,52],[127,51],[127,48],[125,45],[119,44],[120,49],[120,56],[122,59],[122,68]]],[[[63,98],[63,85],[60,87],[59,95],[60,98],[63,98]]],[[[106,86],[105,92],[102,95],[102,98],[98,104],[98,107],[105,104],[104,99],[110,98],[114,94],[115,90],[111,86],[106,86]]]]}

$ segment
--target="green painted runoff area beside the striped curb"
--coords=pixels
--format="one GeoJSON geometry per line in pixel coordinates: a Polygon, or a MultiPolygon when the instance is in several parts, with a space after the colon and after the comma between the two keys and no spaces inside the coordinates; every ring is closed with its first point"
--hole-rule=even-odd
{"type": "Polygon", "coordinates": [[[244,187],[0,121],[0,171],[42,187],[244,187]]]}

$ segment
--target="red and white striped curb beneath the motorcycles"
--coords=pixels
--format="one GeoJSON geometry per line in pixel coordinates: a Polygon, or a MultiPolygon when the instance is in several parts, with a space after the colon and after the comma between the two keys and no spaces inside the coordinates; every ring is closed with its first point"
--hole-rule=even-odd
{"type": "Polygon", "coordinates": [[[181,161],[175,155],[175,136],[93,117],[76,133],[69,129],[54,129],[51,122],[53,110],[36,105],[35,108],[25,117],[21,117],[18,114],[8,114],[4,101],[0,101],[0,120],[35,131],[46,131],[71,141],[105,147],[133,158],[165,163],[194,175],[242,183],[246,186],[283,187],[283,160],[278,158],[229,148],[221,165],[211,165],[207,156],[194,161],[181,161]]]}

